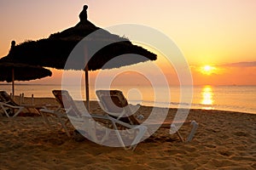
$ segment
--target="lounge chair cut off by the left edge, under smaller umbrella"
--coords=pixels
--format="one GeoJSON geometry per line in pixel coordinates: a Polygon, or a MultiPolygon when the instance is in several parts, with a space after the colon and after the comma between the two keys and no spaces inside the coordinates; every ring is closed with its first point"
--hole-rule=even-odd
{"type": "Polygon", "coordinates": [[[38,110],[45,106],[46,105],[18,105],[6,91],[0,91],[0,107],[8,117],[18,116],[20,112],[24,111],[32,112],[31,109],[40,114],[38,110]]]}

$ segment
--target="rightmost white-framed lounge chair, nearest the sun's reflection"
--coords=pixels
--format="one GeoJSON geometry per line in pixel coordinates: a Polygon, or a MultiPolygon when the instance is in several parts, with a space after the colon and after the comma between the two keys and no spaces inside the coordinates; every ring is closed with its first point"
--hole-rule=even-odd
{"type": "MultiPolygon", "coordinates": [[[[141,121],[139,121],[135,116],[131,114],[130,106],[128,105],[127,99],[125,99],[124,94],[119,90],[97,90],[96,96],[100,101],[100,105],[103,111],[106,111],[110,116],[116,117],[118,120],[123,119],[125,122],[130,122],[132,125],[138,125],[141,121]]],[[[164,127],[170,128],[170,133],[177,133],[178,138],[181,141],[189,142],[193,139],[195,135],[195,131],[198,127],[198,123],[195,121],[189,122],[163,122],[163,123],[151,123],[144,124],[148,127],[164,127]],[[181,133],[177,130],[177,126],[183,124],[192,125],[191,131],[187,138],[183,138],[181,133]]]]}

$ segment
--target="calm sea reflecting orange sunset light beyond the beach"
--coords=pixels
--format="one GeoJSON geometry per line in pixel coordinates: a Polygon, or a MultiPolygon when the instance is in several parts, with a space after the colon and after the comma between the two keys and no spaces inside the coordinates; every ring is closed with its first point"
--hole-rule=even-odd
{"type": "MultiPolygon", "coordinates": [[[[124,92],[129,102],[133,105],[155,105],[160,107],[188,107],[187,102],[180,101],[180,88],[170,87],[170,94],[166,94],[167,88],[157,88],[157,97],[154,97],[152,87],[112,87],[124,92]],[[131,89],[132,88],[132,89],[131,89]],[[166,100],[166,95],[170,99],[166,100]],[[155,101],[154,101],[155,100],[155,101]]],[[[15,95],[24,93],[26,97],[53,97],[51,91],[61,89],[61,85],[15,85],[15,95]]],[[[69,88],[70,89],[70,88],[69,88]]],[[[80,88],[69,90],[74,99],[81,99],[80,88]]],[[[0,90],[11,92],[10,84],[1,84],[0,90]]],[[[84,88],[82,88],[84,99],[84,88]]],[[[90,87],[90,99],[96,100],[95,88],[90,87]]],[[[241,111],[256,114],[256,86],[195,86],[191,108],[223,111],[241,111]]]]}

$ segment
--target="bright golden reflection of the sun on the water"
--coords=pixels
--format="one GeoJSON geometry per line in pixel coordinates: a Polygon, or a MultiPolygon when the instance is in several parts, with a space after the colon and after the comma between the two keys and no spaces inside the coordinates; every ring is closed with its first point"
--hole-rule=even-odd
{"type": "Polygon", "coordinates": [[[213,105],[213,93],[212,93],[212,87],[211,86],[204,86],[201,90],[201,105],[203,105],[202,109],[206,110],[212,110],[214,109],[212,107],[213,105]]]}

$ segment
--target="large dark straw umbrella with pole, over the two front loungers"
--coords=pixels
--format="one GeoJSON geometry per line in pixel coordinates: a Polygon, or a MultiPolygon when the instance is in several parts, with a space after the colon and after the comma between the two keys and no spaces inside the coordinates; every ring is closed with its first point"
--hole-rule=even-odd
{"type": "MultiPolygon", "coordinates": [[[[124,63],[108,65],[108,67],[105,67],[104,69],[119,68],[120,66],[137,64],[139,62],[155,60],[157,58],[156,54],[149,52],[145,48],[133,45],[129,39],[111,34],[110,32],[93,25],[87,20],[87,8],[87,5],[84,5],[83,11],[79,14],[80,21],[76,26],[57,32],[50,35],[48,38],[40,39],[38,41],[22,42],[14,48],[11,48],[8,57],[30,65],[64,69],[67,58],[69,54],[72,53],[73,48],[75,48],[84,37],[97,31],[90,40],[84,42],[84,48],[88,49],[86,53],[92,53],[90,52],[90,49],[106,42],[111,44],[97,51],[96,54],[93,54],[87,65],[79,65],[81,62],[79,60],[78,63],[75,63],[74,61],[74,65],[71,65],[68,68],[65,67],[65,69],[85,71],[86,100],[89,101],[88,71],[102,69],[102,65],[105,65],[110,59],[121,54],[139,54],[144,58],[135,59],[134,55],[127,56],[124,63]]],[[[84,58],[86,59],[86,56],[84,58]]]]}

